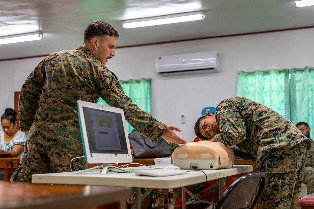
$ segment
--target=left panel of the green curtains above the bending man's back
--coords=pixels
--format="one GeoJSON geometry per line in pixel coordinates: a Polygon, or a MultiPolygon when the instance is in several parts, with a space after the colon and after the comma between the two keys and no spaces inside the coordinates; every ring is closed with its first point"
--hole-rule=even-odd
{"type": "Polygon", "coordinates": [[[285,116],[284,78],[285,72],[275,69],[266,73],[260,70],[255,73],[240,71],[236,96],[261,103],[285,116]]]}

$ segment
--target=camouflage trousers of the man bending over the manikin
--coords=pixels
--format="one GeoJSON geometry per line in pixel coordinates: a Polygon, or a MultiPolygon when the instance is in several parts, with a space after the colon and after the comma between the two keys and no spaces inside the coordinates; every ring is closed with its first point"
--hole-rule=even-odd
{"type": "Polygon", "coordinates": [[[296,208],[307,157],[307,146],[301,142],[291,149],[275,149],[263,160],[261,172],[268,176],[266,189],[257,209],[296,208]]]}

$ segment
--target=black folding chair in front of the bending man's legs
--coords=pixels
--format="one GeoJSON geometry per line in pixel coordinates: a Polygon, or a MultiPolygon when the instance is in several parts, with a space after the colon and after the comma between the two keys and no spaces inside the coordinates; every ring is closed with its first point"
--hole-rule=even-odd
{"type": "Polygon", "coordinates": [[[235,180],[219,199],[215,209],[254,208],[267,183],[267,175],[253,173],[235,180]]]}

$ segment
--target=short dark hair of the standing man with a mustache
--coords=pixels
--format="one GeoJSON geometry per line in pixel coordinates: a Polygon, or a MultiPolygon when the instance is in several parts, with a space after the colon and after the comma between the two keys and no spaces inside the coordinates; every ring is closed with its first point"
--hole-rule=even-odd
{"type": "Polygon", "coordinates": [[[90,40],[95,37],[98,37],[100,41],[103,41],[105,36],[116,36],[116,38],[118,38],[119,33],[108,23],[98,20],[89,24],[85,29],[84,43],[90,42],[90,40]]]}

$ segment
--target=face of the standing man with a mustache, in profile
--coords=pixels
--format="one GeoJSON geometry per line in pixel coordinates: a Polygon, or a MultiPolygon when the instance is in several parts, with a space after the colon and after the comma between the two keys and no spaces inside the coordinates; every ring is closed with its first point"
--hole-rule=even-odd
{"type": "Polygon", "coordinates": [[[104,41],[95,44],[95,58],[106,65],[109,59],[115,56],[116,36],[106,36],[104,41]]]}

